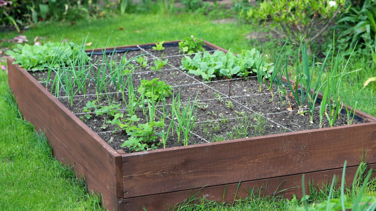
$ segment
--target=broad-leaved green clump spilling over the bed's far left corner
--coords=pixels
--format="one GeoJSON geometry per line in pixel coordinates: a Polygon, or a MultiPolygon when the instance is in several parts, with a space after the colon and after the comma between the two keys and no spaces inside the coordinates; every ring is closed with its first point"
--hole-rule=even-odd
{"type": "Polygon", "coordinates": [[[48,42],[44,45],[18,44],[17,48],[6,51],[6,54],[15,59],[14,64],[20,64],[21,67],[33,71],[45,68],[43,66],[57,68],[61,62],[69,65],[70,61],[76,60],[78,56],[82,56],[86,62],[89,60],[83,48],[73,42],[48,42]]]}

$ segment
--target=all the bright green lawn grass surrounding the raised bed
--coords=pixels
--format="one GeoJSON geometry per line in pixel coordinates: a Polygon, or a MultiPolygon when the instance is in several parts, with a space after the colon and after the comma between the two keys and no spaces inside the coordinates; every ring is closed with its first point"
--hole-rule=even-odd
{"type": "MultiPolygon", "coordinates": [[[[45,37],[42,42],[58,42],[64,36],[64,39],[79,43],[90,33],[87,42],[92,44],[88,48],[104,47],[110,36],[109,46],[115,46],[176,40],[191,34],[223,48],[231,48],[235,53],[242,49],[258,48],[260,44],[272,45],[273,40],[263,43],[247,40],[247,34],[254,30],[262,31],[238,23],[213,23],[202,15],[127,14],[96,21],[77,21],[73,26],[71,23],[40,24],[26,30],[24,35],[30,43],[36,36],[45,37]]],[[[16,35],[15,32],[0,33],[0,37],[6,39],[16,35]]],[[[3,43],[3,46],[5,45],[14,46],[13,43],[3,43]]],[[[361,89],[365,77],[373,74],[374,64],[355,59],[356,62],[350,65],[350,69],[356,66],[367,69],[360,79],[350,78],[346,82],[351,84],[347,96],[350,104],[355,100],[362,100],[358,108],[376,115],[374,87],[361,89]]],[[[86,192],[82,182],[76,179],[69,168],[62,167],[52,158],[43,136],[36,135],[32,125],[20,119],[17,107],[9,100],[8,90],[7,75],[1,72],[0,187],[2,193],[6,194],[0,194],[0,210],[100,210],[98,199],[86,192]]],[[[375,196],[375,193],[374,189],[367,190],[369,196],[375,196]]],[[[314,201],[320,200],[325,198],[314,201]]],[[[296,206],[301,206],[301,203],[288,203],[286,200],[271,198],[247,200],[235,208],[208,205],[205,209],[197,206],[197,210],[294,210],[296,206]]]]}

